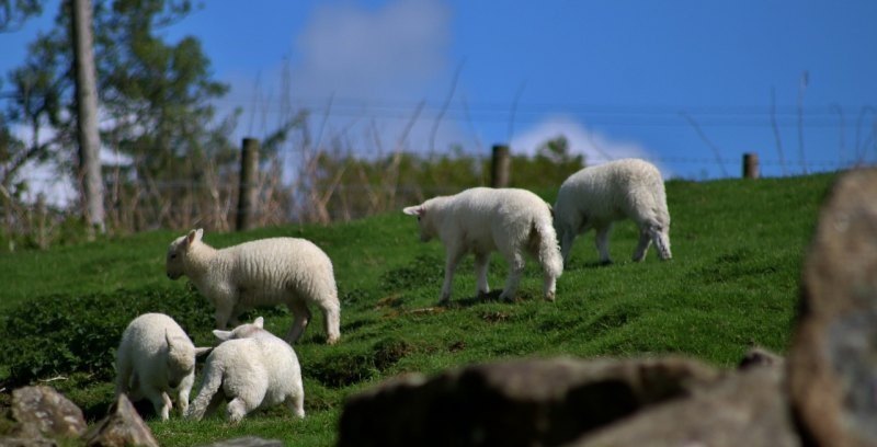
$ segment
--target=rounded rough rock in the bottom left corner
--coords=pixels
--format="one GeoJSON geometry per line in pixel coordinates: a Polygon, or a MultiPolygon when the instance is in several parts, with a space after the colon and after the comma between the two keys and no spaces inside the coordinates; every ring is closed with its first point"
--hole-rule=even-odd
{"type": "Polygon", "coordinates": [[[24,387],[12,391],[14,436],[76,438],[86,433],[82,410],[49,387],[24,387]]]}

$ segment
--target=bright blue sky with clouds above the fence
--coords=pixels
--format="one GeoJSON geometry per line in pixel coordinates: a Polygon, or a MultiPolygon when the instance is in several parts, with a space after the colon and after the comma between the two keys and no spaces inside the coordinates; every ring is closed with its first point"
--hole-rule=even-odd
{"type": "MultiPolygon", "coordinates": [[[[0,34],[0,72],[55,10],[0,34]]],[[[532,153],[565,135],[590,163],[715,179],[748,151],[764,175],[876,162],[875,23],[873,0],[214,0],[164,34],[202,41],[232,87],[217,105],[243,110],[236,138],[276,124],[287,96],[364,153],[532,153]]]]}

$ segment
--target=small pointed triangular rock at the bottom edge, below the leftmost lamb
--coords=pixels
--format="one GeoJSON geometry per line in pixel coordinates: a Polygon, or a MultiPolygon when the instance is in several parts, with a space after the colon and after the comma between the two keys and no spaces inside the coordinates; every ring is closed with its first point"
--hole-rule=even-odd
{"type": "Polygon", "coordinates": [[[84,439],[88,446],[158,447],[152,431],[137,414],[137,410],[125,394],[118,396],[113,406],[110,408],[110,415],[92,426],[84,439]]]}

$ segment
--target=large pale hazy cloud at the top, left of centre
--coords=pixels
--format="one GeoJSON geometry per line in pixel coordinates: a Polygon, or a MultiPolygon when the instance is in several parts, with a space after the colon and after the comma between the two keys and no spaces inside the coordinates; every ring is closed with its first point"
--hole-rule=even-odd
{"type": "Polygon", "coordinates": [[[434,107],[408,128],[420,101],[435,102],[451,87],[451,20],[441,0],[319,4],[293,36],[287,60],[262,72],[258,89],[246,76],[231,80],[230,96],[243,105],[238,133],[270,130],[282,117],[262,111],[278,111],[288,95],[294,110],[311,112],[312,137],[341,137],[360,154],[394,150],[406,131],[405,150],[444,150],[462,141],[456,123],[444,119],[433,145],[434,107]]]}

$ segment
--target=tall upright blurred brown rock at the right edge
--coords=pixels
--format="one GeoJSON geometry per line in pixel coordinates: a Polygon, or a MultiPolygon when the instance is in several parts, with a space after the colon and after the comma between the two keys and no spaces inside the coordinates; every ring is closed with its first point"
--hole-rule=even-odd
{"type": "Polygon", "coordinates": [[[877,445],[877,171],[839,179],[822,206],[787,358],[790,399],[819,445],[877,445]]]}

